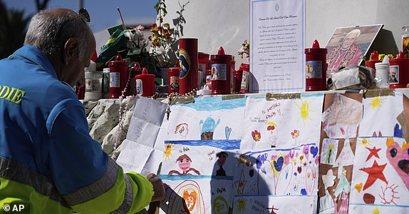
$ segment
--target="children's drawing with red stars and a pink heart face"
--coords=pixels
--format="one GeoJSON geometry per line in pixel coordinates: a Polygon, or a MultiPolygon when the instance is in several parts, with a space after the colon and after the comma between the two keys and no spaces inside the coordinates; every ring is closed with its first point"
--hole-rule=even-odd
{"type": "Polygon", "coordinates": [[[356,146],[349,213],[408,213],[408,144],[404,138],[366,139],[371,146],[356,146]]]}

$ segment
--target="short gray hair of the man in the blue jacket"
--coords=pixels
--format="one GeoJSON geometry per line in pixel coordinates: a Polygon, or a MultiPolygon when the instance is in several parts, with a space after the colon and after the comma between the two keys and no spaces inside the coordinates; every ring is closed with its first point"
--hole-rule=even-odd
{"type": "Polygon", "coordinates": [[[51,10],[40,11],[31,19],[24,44],[36,46],[43,54],[49,55],[62,50],[66,41],[78,39],[78,58],[83,58],[86,43],[92,34],[88,25],[74,11],[63,9],[56,13],[51,10]]]}

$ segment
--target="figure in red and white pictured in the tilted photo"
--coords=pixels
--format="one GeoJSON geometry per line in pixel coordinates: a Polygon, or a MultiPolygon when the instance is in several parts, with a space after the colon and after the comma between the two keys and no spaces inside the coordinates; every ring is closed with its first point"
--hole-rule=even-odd
{"type": "Polygon", "coordinates": [[[338,68],[358,65],[362,50],[355,44],[355,41],[360,35],[361,30],[353,29],[343,38],[342,44],[328,52],[326,56],[327,78],[331,77],[331,73],[338,71],[338,68]]]}

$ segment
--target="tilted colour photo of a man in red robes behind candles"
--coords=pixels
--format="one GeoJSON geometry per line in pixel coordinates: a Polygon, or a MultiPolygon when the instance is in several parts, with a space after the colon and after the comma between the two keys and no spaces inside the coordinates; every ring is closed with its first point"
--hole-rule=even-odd
{"type": "Polygon", "coordinates": [[[376,24],[335,29],[326,44],[326,78],[330,78],[331,73],[338,72],[339,68],[361,64],[363,56],[382,27],[383,24],[376,24]]]}

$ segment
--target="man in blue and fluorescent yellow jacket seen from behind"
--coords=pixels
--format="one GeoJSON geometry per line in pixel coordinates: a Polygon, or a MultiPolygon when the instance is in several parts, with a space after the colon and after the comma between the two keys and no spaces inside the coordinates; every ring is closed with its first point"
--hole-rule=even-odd
{"type": "Polygon", "coordinates": [[[165,198],[160,178],[123,173],[88,134],[72,89],[95,51],[86,15],[39,12],[24,46],[0,61],[4,210],[4,203],[23,202],[31,213],[135,213],[165,198]]]}

